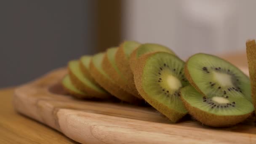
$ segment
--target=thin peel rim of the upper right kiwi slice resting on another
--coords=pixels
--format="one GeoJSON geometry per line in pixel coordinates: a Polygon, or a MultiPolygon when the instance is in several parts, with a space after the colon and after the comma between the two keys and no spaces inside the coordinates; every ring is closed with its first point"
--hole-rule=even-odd
{"type": "MultiPolygon", "coordinates": [[[[197,53],[197,54],[205,54],[205,55],[209,55],[209,54],[206,54],[206,53],[197,53]]],[[[193,55],[194,56],[194,55],[193,55]]],[[[213,56],[213,55],[211,55],[211,56],[213,56]]],[[[218,59],[221,59],[220,57],[218,57],[218,56],[215,56],[216,58],[218,58],[218,59]]],[[[192,56],[190,56],[189,57],[189,59],[190,58],[192,58],[192,56]]],[[[203,91],[201,91],[200,90],[200,88],[195,84],[195,82],[192,80],[192,77],[190,76],[190,74],[189,74],[189,70],[188,70],[188,67],[187,67],[187,65],[188,65],[188,61],[189,61],[189,59],[186,61],[186,63],[185,63],[185,67],[184,67],[184,74],[185,74],[185,77],[187,78],[187,80],[189,81],[189,83],[202,95],[202,96],[205,96],[205,97],[208,97],[207,95],[205,95],[205,93],[203,93],[203,91]]],[[[224,59],[222,59],[222,60],[224,60],[224,59]]],[[[224,60],[224,61],[226,61],[226,60],[224,60]]],[[[233,64],[231,64],[229,61],[226,61],[228,64],[230,64],[230,65],[233,65],[233,64]]],[[[238,69],[238,68],[237,68],[238,69]]],[[[238,69],[238,70],[240,70],[240,69],[238,69]]],[[[240,70],[241,71],[241,70],[240,70]]],[[[242,71],[241,71],[242,72],[242,71]]],[[[243,74],[244,74],[244,72],[242,72],[243,74]]],[[[244,74],[245,75],[245,74],[244,74]]],[[[245,98],[246,99],[246,98],[245,98]]]]}

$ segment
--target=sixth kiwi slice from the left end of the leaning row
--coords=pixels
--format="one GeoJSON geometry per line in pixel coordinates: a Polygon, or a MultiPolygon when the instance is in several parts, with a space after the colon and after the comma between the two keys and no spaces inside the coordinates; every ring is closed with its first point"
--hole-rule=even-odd
{"type": "MultiPolygon", "coordinates": [[[[139,45],[140,43],[136,41],[123,42],[120,45],[120,47],[117,49],[117,52],[115,53],[115,63],[121,75],[125,77],[126,85],[123,85],[123,87],[127,87],[127,91],[129,93],[132,93],[134,96],[141,98],[141,96],[139,95],[139,92],[135,87],[134,80],[133,80],[133,73],[129,65],[129,58],[131,56],[131,53],[136,48],[138,48],[139,45]]],[[[122,82],[117,82],[117,83],[122,83],[122,82]]]]}

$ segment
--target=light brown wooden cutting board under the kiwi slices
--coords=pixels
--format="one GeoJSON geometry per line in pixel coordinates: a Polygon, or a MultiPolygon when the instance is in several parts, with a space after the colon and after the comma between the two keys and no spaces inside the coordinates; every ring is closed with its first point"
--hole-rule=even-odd
{"type": "Polygon", "coordinates": [[[21,85],[14,93],[15,109],[86,144],[256,144],[254,117],[229,128],[210,128],[189,116],[174,124],[151,107],[67,96],[59,84],[66,73],[57,69],[21,85]]]}

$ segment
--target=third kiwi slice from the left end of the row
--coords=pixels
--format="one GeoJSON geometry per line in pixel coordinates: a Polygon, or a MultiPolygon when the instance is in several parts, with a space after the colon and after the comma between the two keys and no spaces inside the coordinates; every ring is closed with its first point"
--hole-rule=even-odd
{"type": "Polygon", "coordinates": [[[91,80],[92,82],[96,83],[96,81],[93,79],[89,71],[91,58],[92,56],[88,56],[88,55],[82,56],[80,58],[79,65],[80,65],[80,69],[83,72],[83,75],[87,77],[89,80],[91,80]]]}

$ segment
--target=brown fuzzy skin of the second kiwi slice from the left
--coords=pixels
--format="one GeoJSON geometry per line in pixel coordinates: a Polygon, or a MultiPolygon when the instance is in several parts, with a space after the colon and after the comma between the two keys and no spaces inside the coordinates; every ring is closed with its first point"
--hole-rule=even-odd
{"type": "Polygon", "coordinates": [[[73,73],[72,71],[68,68],[68,73],[70,76],[70,80],[72,84],[79,89],[80,91],[83,91],[85,93],[88,93],[88,95],[99,98],[99,99],[110,99],[112,96],[109,93],[100,93],[97,92],[91,88],[89,88],[87,85],[84,85],[73,73]]]}

